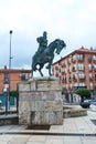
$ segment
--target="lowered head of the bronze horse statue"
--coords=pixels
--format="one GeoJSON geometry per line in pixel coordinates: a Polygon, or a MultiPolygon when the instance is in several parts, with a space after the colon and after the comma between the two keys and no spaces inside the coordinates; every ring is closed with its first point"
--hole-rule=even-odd
{"type": "Polygon", "coordinates": [[[55,51],[55,53],[60,54],[60,52],[62,51],[62,49],[64,47],[66,47],[66,44],[65,44],[65,42],[63,40],[60,40],[60,39],[56,39],[55,43],[56,43],[56,51],[55,51]]]}

